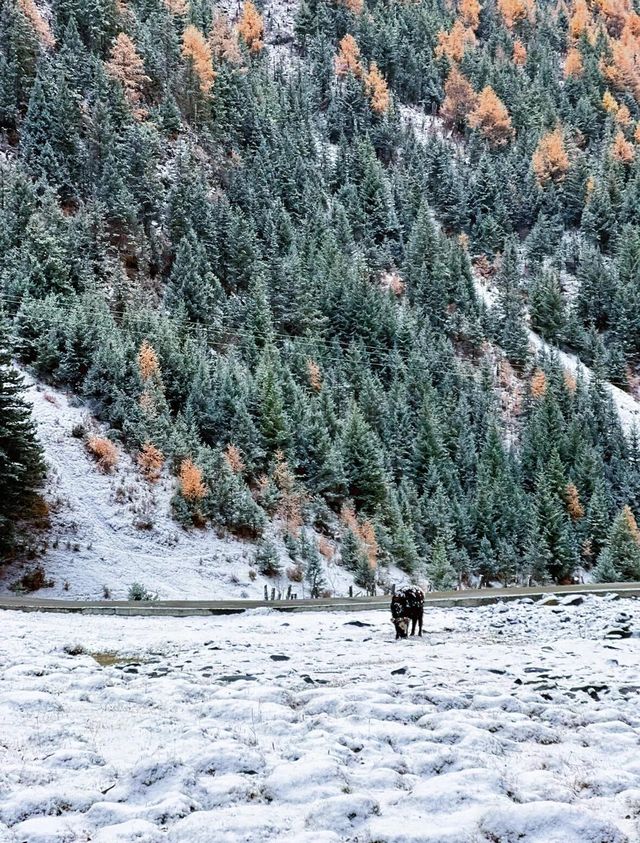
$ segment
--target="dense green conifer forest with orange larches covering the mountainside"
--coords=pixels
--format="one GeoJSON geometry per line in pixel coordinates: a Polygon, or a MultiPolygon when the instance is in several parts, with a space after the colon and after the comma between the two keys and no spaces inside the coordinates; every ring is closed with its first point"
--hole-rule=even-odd
{"type": "Polygon", "coordinates": [[[279,12],[0,0],[15,356],[263,571],[276,529],[312,572],[339,536],[363,587],[639,579],[631,0],[279,12]]]}

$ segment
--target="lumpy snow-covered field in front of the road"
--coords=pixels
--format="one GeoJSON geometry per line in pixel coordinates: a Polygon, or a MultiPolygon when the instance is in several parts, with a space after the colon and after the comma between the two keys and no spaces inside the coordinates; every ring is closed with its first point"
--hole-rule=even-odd
{"type": "Polygon", "coordinates": [[[0,841],[636,841],[639,620],[5,612],[0,841]]]}

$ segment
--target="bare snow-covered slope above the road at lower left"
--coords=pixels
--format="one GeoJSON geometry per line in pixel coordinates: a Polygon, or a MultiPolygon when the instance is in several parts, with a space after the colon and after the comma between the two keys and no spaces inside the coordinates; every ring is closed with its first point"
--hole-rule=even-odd
{"type": "MultiPolygon", "coordinates": [[[[54,585],[40,596],[102,599],[106,587],[111,597],[122,599],[134,582],[164,599],[262,598],[265,584],[286,592],[286,576],[267,579],[255,570],[255,545],[220,538],[210,529],[187,532],[178,526],[170,512],[172,477],[149,484],[122,449],[114,472],[101,472],[82,440],[72,435],[76,425],[99,432],[87,409],[33,378],[27,376],[26,383],[49,466],[46,497],[52,509],[53,526],[43,537],[48,546],[40,561],[54,585]]],[[[283,565],[291,566],[281,550],[283,565]]],[[[0,567],[0,592],[21,570],[0,567]]],[[[337,595],[353,583],[330,561],[325,578],[337,595]]],[[[298,597],[307,596],[304,583],[291,585],[298,597]]]]}

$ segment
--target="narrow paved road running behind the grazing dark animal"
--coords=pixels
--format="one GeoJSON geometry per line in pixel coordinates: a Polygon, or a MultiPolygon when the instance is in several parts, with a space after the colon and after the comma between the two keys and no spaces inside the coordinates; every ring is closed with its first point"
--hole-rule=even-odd
{"type": "MultiPolygon", "coordinates": [[[[538,600],[548,594],[607,594],[640,597],[640,583],[543,586],[534,588],[467,589],[434,591],[426,596],[426,605],[479,606],[499,600],[531,597],[538,600]]],[[[282,612],[318,612],[322,610],[353,612],[388,609],[389,598],[332,597],[321,600],[156,600],[150,603],[130,600],[49,600],[33,596],[0,597],[0,609],[24,612],[79,612],[95,615],[146,615],[189,617],[193,615],[233,615],[247,609],[277,609],[282,612]]]]}

